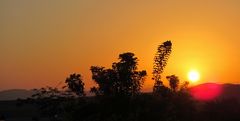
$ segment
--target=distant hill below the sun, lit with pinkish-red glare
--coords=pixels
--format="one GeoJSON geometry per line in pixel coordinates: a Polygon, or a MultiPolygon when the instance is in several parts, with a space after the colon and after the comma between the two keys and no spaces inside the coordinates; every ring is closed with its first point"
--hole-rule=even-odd
{"type": "Polygon", "coordinates": [[[240,84],[204,83],[190,88],[191,94],[200,100],[237,99],[240,101],[240,84]]]}

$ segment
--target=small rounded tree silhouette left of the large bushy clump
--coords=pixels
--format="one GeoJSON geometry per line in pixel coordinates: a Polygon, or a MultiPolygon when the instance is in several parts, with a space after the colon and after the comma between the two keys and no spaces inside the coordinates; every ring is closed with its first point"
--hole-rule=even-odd
{"type": "Polygon", "coordinates": [[[84,83],[82,81],[80,74],[71,74],[67,77],[65,83],[67,83],[68,88],[78,96],[84,96],[84,83]]]}

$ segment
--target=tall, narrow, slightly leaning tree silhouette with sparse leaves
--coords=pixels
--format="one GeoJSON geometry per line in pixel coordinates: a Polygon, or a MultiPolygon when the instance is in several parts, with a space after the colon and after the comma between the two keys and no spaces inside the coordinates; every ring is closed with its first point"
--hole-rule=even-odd
{"type": "Polygon", "coordinates": [[[160,93],[159,91],[164,90],[164,85],[161,80],[161,74],[163,69],[167,65],[167,60],[172,51],[172,42],[166,41],[163,44],[158,46],[157,53],[154,57],[153,64],[153,80],[155,80],[155,84],[153,87],[153,93],[160,93]]]}

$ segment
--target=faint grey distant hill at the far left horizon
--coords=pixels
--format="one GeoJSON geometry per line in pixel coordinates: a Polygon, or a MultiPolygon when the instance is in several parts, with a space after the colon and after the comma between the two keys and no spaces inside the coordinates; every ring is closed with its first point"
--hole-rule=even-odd
{"type": "Polygon", "coordinates": [[[0,100],[16,100],[18,98],[26,99],[28,97],[31,97],[32,94],[33,91],[25,89],[4,90],[0,91],[0,100]]]}

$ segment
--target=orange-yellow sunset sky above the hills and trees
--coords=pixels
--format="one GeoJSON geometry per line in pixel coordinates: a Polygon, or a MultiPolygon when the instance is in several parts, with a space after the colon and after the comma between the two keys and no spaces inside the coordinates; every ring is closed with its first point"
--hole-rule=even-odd
{"type": "Polygon", "coordinates": [[[71,73],[88,90],[90,66],[133,52],[151,91],[153,57],[166,40],[164,76],[186,81],[197,70],[192,85],[240,83],[239,21],[239,0],[1,0],[0,90],[54,87],[71,73]]]}

